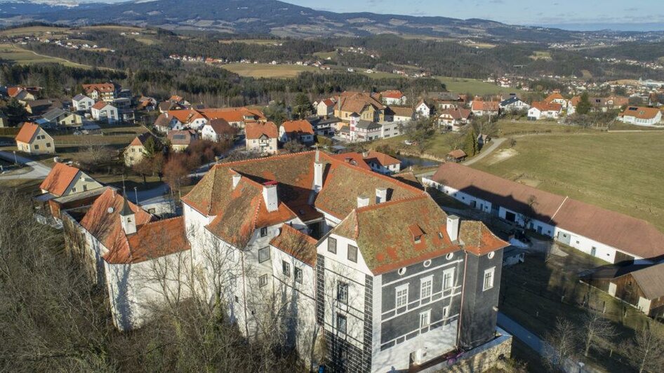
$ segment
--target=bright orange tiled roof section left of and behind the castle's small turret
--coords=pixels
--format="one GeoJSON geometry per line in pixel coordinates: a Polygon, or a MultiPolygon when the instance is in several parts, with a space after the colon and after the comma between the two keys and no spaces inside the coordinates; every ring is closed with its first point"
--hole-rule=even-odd
{"type": "MultiPolygon", "coordinates": [[[[114,189],[107,188],[81,219],[81,226],[108,250],[105,258],[112,258],[117,253],[128,252],[131,249],[129,239],[120,223],[120,211],[123,205],[124,197],[114,189]]],[[[128,206],[135,214],[137,229],[152,221],[152,215],[137,205],[128,202],[128,206]]]]}

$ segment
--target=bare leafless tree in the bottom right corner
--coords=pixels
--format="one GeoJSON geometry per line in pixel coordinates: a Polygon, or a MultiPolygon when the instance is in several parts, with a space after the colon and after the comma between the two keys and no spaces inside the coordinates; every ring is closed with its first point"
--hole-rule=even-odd
{"type": "Polygon", "coordinates": [[[664,337],[646,325],[625,346],[632,367],[643,372],[660,372],[664,367],[664,337]]]}

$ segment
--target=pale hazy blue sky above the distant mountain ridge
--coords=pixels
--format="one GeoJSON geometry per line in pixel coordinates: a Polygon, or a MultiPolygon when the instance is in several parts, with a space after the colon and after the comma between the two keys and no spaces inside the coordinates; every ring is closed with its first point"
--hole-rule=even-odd
{"type": "Polygon", "coordinates": [[[515,25],[569,25],[571,29],[664,29],[662,0],[284,0],[335,12],[483,18],[515,25]]]}

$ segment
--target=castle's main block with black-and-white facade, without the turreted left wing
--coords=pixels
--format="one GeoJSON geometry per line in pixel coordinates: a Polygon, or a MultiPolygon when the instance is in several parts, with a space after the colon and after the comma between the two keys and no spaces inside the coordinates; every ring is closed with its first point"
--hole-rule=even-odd
{"type": "Polygon", "coordinates": [[[496,339],[507,243],[398,179],[309,151],[215,165],[182,203],[192,257],[232,252],[225,265],[242,274],[228,312],[245,334],[279,299],[296,315],[286,334],[298,353],[312,356],[317,338],[343,343],[347,358],[326,360],[349,372],[408,369],[413,351],[424,364],[496,339]]]}

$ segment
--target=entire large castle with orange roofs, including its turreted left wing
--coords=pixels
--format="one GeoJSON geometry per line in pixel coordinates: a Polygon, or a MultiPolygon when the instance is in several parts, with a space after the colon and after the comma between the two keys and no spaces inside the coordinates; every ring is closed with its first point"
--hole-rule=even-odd
{"type": "Polygon", "coordinates": [[[247,337],[264,313],[288,310],[273,321],[286,340],[307,365],[324,343],[333,371],[407,370],[498,337],[507,243],[397,179],[310,151],[215,165],[182,205],[156,221],[106,189],[80,222],[63,214],[120,330],[180,294],[180,273],[154,276],[171,263],[223,276],[201,299],[223,297],[247,337]],[[215,254],[227,259],[215,266],[215,254]]]}

